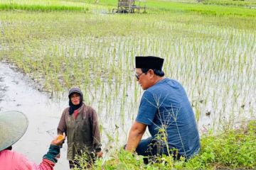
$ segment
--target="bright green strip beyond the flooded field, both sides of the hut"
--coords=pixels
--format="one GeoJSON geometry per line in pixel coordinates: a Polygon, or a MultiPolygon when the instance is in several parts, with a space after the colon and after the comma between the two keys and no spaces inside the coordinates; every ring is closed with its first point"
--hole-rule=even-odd
{"type": "MultiPolygon", "coordinates": [[[[256,16],[255,8],[241,8],[238,6],[256,7],[253,1],[203,1],[202,3],[179,3],[176,1],[152,1],[146,2],[148,13],[198,13],[209,16],[256,16]],[[223,7],[223,4],[225,7],[223,7]],[[233,6],[233,4],[236,4],[233,6]],[[210,5],[208,5],[210,4],[210,5]]],[[[99,1],[1,1],[0,10],[26,10],[26,11],[93,11],[92,8],[102,8],[109,12],[117,6],[116,0],[99,1]],[[101,6],[99,6],[101,5],[101,6]],[[86,6],[86,7],[85,7],[86,6]]]]}

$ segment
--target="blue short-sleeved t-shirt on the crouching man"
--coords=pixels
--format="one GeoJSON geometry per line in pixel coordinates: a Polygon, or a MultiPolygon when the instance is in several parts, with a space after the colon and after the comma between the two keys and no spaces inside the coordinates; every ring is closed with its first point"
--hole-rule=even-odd
{"type": "Polygon", "coordinates": [[[152,137],[164,128],[170,148],[191,157],[200,149],[196,120],[183,86],[173,79],[162,79],[144,91],[136,121],[148,125],[152,137]]]}

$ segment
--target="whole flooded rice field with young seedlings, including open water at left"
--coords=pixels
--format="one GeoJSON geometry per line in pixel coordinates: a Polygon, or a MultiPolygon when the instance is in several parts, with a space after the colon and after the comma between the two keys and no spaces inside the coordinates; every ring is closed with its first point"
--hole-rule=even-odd
{"type": "MultiPolygon", "coordinates": [[[[166,76],[183,84],[201,134],[255,119],[253,22],[162,18],[2,12],[0,60],[8,63],[0,64],[0,111],[21,111],[29,120],[14,149],[41,162],[68,106],[67,87],[76,84],[98,113],[107,158],[124,145],[137,115],[143,93],[134,77],[137,55],[164,57],[166,76]]],[[[65,152],[66,145],[56,169],[68,169],[65,152]]]]}

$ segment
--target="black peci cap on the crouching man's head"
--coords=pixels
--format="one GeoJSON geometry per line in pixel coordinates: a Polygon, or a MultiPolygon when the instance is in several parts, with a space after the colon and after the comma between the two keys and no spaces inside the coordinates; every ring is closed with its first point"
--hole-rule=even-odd
{"type": "Polygon", "coordinates": [[[143,69],[159,69],[161,70],[164,59],[154,56],[137,56],[135,57],[135,67],[143,69]]]}

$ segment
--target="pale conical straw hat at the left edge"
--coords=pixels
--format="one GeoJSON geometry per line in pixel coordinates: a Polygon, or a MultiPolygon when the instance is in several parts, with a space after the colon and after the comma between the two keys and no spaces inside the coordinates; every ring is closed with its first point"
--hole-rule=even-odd
{"type": "Polygon", "coordinates": [[[0,113],[0,151],[14,145],[26,132],[28,118],[19,111],[0,113]]]}

